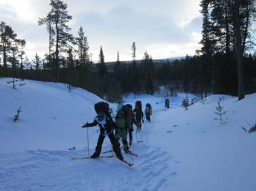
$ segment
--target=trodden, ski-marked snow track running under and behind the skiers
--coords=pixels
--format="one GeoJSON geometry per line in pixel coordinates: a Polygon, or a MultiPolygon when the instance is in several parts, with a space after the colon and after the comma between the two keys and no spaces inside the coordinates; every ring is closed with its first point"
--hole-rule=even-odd
{"type": "MultiPolygon", "coordinates": [[[[124,154],[133,167],[115,158],[70,160],[87,156],[87,151],[26,151],[0,155],[0,190],[165,190],[177,172],[169,154],[148,144],[148,135],[154,128],[154,117],[163,112],[156,109],[152,123],[144,123],[142,132],[133,140],[139,157],[124,154]]],[[[109,140],[105,140],[108,141],[109,140]]],[[[96,142],[93,142],[95,145],[96,142]]],[[[110,144],[102,151],[108,151],[110,144]]],[[[133,147],[132,147],[133,148],[133,147]]],[[[90,153],[93,151],[91,150],[90,153]]],[[[106,153],[102,155],[112,155],[106,153]]]]}

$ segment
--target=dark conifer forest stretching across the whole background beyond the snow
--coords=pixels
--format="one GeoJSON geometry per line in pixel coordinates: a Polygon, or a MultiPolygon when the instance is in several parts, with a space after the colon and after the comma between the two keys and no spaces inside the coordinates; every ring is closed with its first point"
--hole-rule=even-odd
{"type": "MultiPolygon", "coordinates": [[[[49,34],[49,51],[44,57],[24,57],[25,39],[17,38],[11,26],[0,23],[0,77],[64,82],[68,88],[86,88],[108,101],[121,102],[124,94],[154,94],[160,87],[176,92],[232,94],[243,99],[256,92],[256,54],[253,22],[255,0],[202,0],[202,45],[194,56],[172,61],[154,61],[145,51],[136,59],[131,42],[131,61],[106,63],[100,47],[98,63],[93,63],[89,43],[81,26],[70,34],[67,4],[50,1],[51,9],[39,18],[39,27],[49,34]]],[[[116,47],[118,49],[118,47],[116,47]]]]}

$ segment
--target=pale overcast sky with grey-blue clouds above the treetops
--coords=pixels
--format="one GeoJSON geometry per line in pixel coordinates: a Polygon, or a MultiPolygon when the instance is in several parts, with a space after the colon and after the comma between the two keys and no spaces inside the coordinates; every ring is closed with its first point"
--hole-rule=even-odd
{"type": "MultiPolygon", "coordinates": [[[[153,59],[194,55],[201,38],[200,0],[64,0],[77,36],[85,29],[93,60],[98,61],[100,46],[106,61],[131,60],[135,42],[137,59],[145,50],[153,59]]],[[[47,0],[0,0],[0,20],[12,26],[18,38],[26,39],[26,54],[43,56],[48,49],[45,26],[37,20],[49,11],[47,0]]]]}

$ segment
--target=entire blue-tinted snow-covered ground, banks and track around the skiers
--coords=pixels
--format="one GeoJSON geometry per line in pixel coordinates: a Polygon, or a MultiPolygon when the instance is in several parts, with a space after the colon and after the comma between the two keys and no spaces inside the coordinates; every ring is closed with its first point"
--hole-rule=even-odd
{"type": "MultiPolygon", "coordinates": [[[[153,107],[152,122],[133,132],[131,150],[123,153],[133,167],[117,159],[71,161],[87,156],[87,130],[81,128],[95,116],[99,97],[66,84],[25,80],[13,90],[10,79],[0,79],[0,190],[255,190],[256,94],[242,101],[213,95],[203,105],[180,107],[185,94],[165,99],[148,95],[125,98],[153,107]],[[227,110],[219,124],[215,107],[219,97],[227,110]],[[13,121],[18,107],[20,119],[13,121]],[[143,142],[137,142],[143,140],[143,142]],[[76,146],[77,150],[68,148],[76,146]]],[[[189,95],[190,99],[193,95],[189,95]]],[[[112,104],[116,110],[116,105],[112,104]]],[[[89,153],[98,140],[98,128],[89,128],[89,153]]],[[[111,148],[108,138],[102,151],[111,148]]],[[[110,155],[110,154],[102,154],[110,155]]]]}

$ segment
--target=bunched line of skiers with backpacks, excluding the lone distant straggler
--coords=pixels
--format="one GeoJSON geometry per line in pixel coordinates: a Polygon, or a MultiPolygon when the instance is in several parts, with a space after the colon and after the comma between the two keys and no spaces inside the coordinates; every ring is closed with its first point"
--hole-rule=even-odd
{"type": "Polygon", "coordinates": [[[96,103],[94,105],[94,109],[97,115],[93,122],[87,122],[82,126],[82,128],[89,128],[93,126],[100,127],[97,146],[95,147],[95,152],[91,155],[91,158],[100,157],[104,138],[108,136],[116,157],[121,161],[124,161],[119,140],[123,143],[125,153],[133,154],[129,151],[129,148],[133,144],[133,124],[137,126],[137,132],[140,132],[142,130],[142,123],[144,123],[144,113],[146,115],[146,120],[150,122],[150,115],[152,115],[152,107],[150,103],[146,104],[144,113],[142,111],[141,101],[136,101],[135,109],[133,109],[130,104],[121,105],[114,117],[111,116],[112,109],[109,108],[109,105],[106,102],[96,103]],[[128,134],[129,144],[127,142],[128,134]]]}

